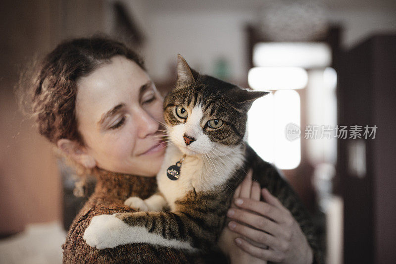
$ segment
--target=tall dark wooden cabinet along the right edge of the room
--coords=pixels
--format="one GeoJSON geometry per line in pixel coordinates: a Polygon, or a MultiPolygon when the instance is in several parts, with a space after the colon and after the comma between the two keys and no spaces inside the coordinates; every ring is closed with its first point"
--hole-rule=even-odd
{"type": "Polygon", "coordinates": [[[373,36],[341,53],[338,62],[339,124],[378,127],[375,139],[338,142],[336,186],[345,206],[344,263],[394,263],[396,35],[373,36]],[[356,173],[353,159],[363,161],[359,166],[364,173],[356,173]]]}

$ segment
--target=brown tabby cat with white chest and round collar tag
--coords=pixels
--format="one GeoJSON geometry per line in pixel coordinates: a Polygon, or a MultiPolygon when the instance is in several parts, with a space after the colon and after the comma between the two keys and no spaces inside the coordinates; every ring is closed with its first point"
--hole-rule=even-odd
{"type": "Polygon", "coordinates": [[[292,197],[291,202],[280,200],[304,215],[290,186],[244,140],[247,111],[266,94],[199,75],[178,55],[177,85],[163,105],[171,144],[157,174],[158,192],[144,201],[127,199],[125,204],[137,212],[93,217],[84,233],[87,244],[97,249],[150,243],[209,250],[249,167],[261,187],[292,197]]]}

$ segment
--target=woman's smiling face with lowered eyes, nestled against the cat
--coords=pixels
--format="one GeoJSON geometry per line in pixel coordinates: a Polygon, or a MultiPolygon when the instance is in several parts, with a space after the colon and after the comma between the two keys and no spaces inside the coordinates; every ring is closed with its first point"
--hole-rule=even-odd
{"type": "Polygon", "coordinates": [[[165,153],[162,98],[134,61],[114,56],[77,81],[76,116],[97,166],[154,176],[165,153]]]}

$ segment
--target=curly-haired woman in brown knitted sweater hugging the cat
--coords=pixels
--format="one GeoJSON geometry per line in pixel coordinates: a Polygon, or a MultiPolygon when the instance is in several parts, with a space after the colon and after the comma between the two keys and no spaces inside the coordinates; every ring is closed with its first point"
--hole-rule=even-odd
{"type": "MultiPolygon", "coordinates": [[[[85,243],[82,236],[93,216],[133,211],[123,205],[125,199],[145,199],[154,192],[154,176],[166,146],[159,140],[162,98],[139,56],[124,44],[105,38],[64,42],[37,70],[31,100],[40,133],[84,168],[85,174],[98,178],[95,193],[68,232],[64,263],[224,262],[224,255],[216,249],[207,255],[189,255],[148,244],[96,250],[85,243]]],[[[296,215],[252,183],[251,173],[234,197],[241,198],[228,213],[234,221],[224,228],[218,243],[232,263],[321,262],[313,229],[304,228],[303,232],[296,215]],[[260,202],[260,196],[265,202],[260,202]],[[264,232],[269,226],[275,230],[273,234],[264,232]]],[[[297,197],[292,198],[298,202],[297,197]]],[[[304,215],[309,222],[305,226],[312,227],[301,208],[299,216],[304,215]]]]}

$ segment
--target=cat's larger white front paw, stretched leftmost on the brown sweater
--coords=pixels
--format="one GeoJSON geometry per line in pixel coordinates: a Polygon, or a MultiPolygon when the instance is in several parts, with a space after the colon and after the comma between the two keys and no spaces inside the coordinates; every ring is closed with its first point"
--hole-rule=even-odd
{"type": "Polygon", "coordinates": [[[125,225],[115,214],[97,215],[85,229],[83,238],[89,246],[97,249],[114,248],[125,244],[122,241],[125,225]]]}

